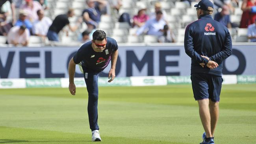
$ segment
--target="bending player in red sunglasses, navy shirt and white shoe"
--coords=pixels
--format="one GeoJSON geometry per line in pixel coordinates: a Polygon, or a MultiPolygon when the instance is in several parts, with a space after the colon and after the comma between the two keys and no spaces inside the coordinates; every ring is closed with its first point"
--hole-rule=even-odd
{"type": "Polygon", "coordinates": [[[118,45],[115,39],[106,37],[102,30],[93,33],[93,40],[83,44],[69,62],[69,91],[76,94],[74,74],[76,64],[82,66],[83,76],[88,91],[88,116],[92,141],[101,141],[98,132],[98,74],[104,70],[111,61],[108,77],[109,83],[115,78],[115,66],[118,57],[118,45]],[[111,78],[111,79],[110,79],[111,78]]]}

